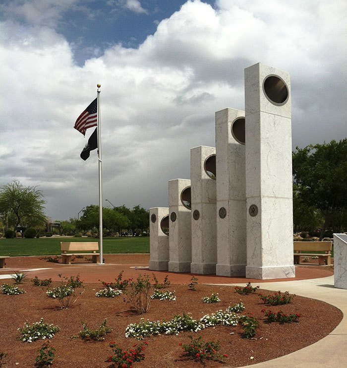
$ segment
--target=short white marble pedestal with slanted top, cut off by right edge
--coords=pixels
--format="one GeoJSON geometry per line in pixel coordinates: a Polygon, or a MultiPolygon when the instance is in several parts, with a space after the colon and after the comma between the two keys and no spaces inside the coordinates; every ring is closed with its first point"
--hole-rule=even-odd
{"type": "Polygon", "coordinates": [[[334,286],[347,289],[347,234],[334,234],[334,286]]]}

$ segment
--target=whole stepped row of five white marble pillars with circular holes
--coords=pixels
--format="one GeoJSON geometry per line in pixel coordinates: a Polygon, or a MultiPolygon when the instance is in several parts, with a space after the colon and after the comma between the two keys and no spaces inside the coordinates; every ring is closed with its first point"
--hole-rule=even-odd
{"type": "Polygon", "coordinates": [[[289,73],[246,68],[245,111],[216,112],[216,148],[192,148],[190,168],[150,209],[149,268],[294,277],[289,73]]]}

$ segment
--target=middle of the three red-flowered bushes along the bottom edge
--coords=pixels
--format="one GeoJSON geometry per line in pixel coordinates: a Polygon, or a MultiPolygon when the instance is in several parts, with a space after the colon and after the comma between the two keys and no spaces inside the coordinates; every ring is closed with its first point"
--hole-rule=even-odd
{"type": "Polygon", "coordinates": [[[106,362],[113,362],[111,367],[127,368],[132,367],[134,362],[141,362],[145,359],[143,351],[145,345],[148,345],[145,341],[141,344],[135,344],[130,350],[123,350],[119,348],[115,343],[111,343],[113,355],[110,355],[106,362]]]}

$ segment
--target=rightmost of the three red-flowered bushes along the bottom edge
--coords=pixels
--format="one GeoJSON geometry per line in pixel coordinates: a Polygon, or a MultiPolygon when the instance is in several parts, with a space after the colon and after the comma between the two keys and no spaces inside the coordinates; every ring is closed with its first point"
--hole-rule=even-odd
{"type": "Polygon", "coordinates": [[[190,343],[187,345],[182,345],[179,343],[179,346],[182,347],[185,355],[188,358],[192,358],[200,363],[204,364],[205,360],[212,360],[215,362],[225,363],[223,358],[228,358],[227,354],[219,354],[219,343],[208,341],[204,342],[202,337],[199,336],[197,339],[193,339],[190,336],[190,343]]]}

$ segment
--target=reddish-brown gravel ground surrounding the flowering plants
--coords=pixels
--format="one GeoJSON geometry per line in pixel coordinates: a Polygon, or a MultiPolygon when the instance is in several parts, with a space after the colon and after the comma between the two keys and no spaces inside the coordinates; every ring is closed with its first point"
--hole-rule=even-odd
{"type": "MultiPolygon", "coordinates": [[[[167,288],[175,291],[176,301],[153,300],[149,312],[138,315],[130,310],[129,304],[123,297],[96,298],[95,293],[103,289],[100,280],[112,282],[119,271],[124,270],[124,277],[137,277],[138,274],[149,274],[152,271],[145,269],[149,256],[140,255],[110,255],[106,254],[106,265],[90,263],[62,265],[47,262],[39,257],[13,257],[7,260],[6,269],[0,274],[11,273],[12,270],[25,270],[32,268],[46,268],[49,270],[28,271],[27,281],[19,285],[26,294],[7,296],[0,294],[0,353],[6,352],[2,367],[32,367],[43,341],[38,340],[32,344],[18,340],[17,328],[23,327],[24,322],[30,324],[37,322],[41,317],[44,322],[53,323],[60,327],[51,340],[56,349],[53,367],[109,367],[107,363],[112,353],[111,342],[116,342],[124,349],[130,349],[138,341],[125,338],[125,328],[129,323],[137,323],[141,318],[149,320],[169,320],[174,315],[191,313],[195,319],[219,309],[226,309],[231,304],[242,301],[246,307],[243,313],[252,312],[259,319],[259,327],[254,339],[242,337],[242,328],[216,326],[207,328],[199,333],[183,332],[178,336],[152,336],[146,339],[148,346],[145,350],[145,360],[135,363],[134,367],[200,367],[201,364],[187,360],[182,354],[179,343],[187,344],[189,336],[197,338],[202,336],[204,341],[219,341],[220,351],[227,354],[226,364],[207,361],[206,367],[240,367],[259,363],[289,354],[295,350],[308,346],[329,334],[341,321],[342,312],[323,302],[296,296],[292,303],[281,307],[266,307],[258,295],[242,296],[234,292],[232,286],[202,285],[202,283],[246,283],[245,278],[227,278],[213,275],[196,275],[198,285],[196,291],[189,290],[188,284],[191,274],[175,274],[168,272],[155,272],[159,282],[169,275],[171,285],[167,288]],[[135,267],[137,268],[131,268],[135,267]],[[52,277],[53,286],[59,285],[58,274],[70,277],[80,275],[85,282],[85,291],[77,301],[67,309],[61,309],[58,301],[46,296],[46,288],[35,287],[30,278],[38,276],[39,279],[52,277]],[[202,298],[219,293],[221,299],[217,304],[202,303],[202,298]],[[298,323],[265,323],[263,308],[284,313],[300,313],[298,323]],[[107,325],[113,331],[105,335],[101,342],[83,341],[80,338],[72,339],[82,329],[82,323],[87,322],[89,327],[96,329],[107,318],[107,325]]],[[[81,259],[75,261],[80,262],[81,259]]],[[[82,260],[83,261],[83,260],[82,260]]],[[[331,267],[296,267],[296,277],[316,278],[329,276],[333,273],[331,267]]],[[[252,286],[260,285],[257,291],[262,294],[272,294],[266,291],[266,282],[250,280],[252,286]]],[[[273,280],[271,280],[273,281],[273,280]]],[[[3,283],[12,283],[12,280],[1,280],[3,283]]],[[[286,290],[282,290],[285,292],[286,290]]],[[[1,365],[1,364],[0,364],[1,365]]]]}

